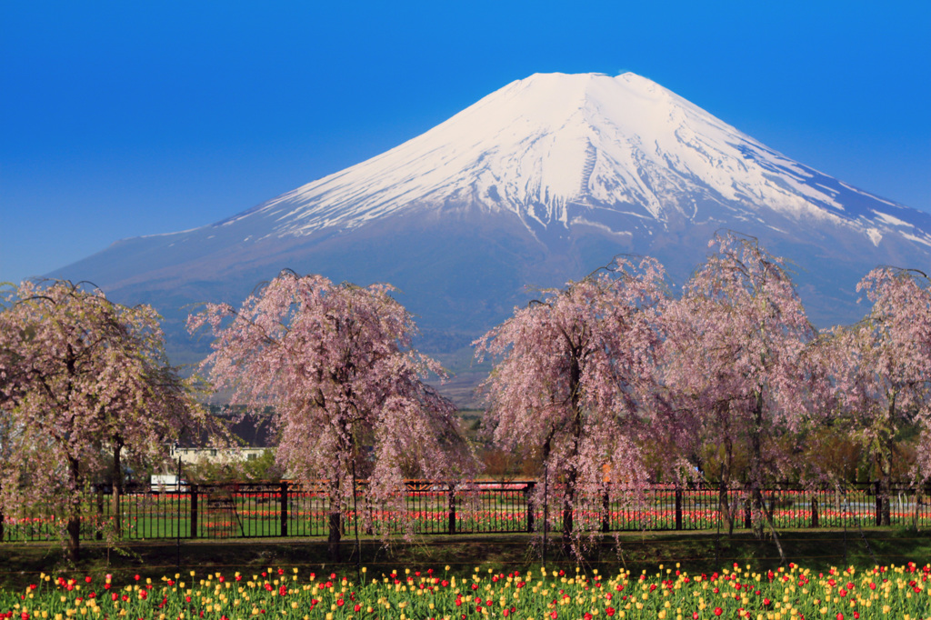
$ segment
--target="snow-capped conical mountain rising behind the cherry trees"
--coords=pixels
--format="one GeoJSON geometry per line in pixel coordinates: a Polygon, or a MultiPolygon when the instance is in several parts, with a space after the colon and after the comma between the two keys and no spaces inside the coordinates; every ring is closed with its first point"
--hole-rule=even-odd
{"type": "MultiPolygon", "coordinates": [[[[856,320],[878,264],[927,268],[931,215],[781,155],[636,74],[534,74],[423,135],[222,222],[116,242],[51,274],[153,303],[171,350],[205,350],[186,304],[238,304],[285,267],[386,281],[420,348],[451,352],[532,293],[618,253],[681,283],[720,229],[793,264],[820,325],[856,320]]],[[[184,352],[190,355],[184,355],[184,352]]]]}

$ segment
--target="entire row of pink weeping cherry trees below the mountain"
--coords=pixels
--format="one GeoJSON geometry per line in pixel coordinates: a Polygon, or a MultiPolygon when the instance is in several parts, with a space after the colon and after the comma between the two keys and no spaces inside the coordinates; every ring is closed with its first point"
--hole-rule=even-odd
{"type": "Polygon", "coordinates": [[[404,478],[465,482],[482,464],[559,482],[567,548],[583,495],[652,480],[743,489],[764,523],[773,480],[870,478],[887,522],[892,480],[931,471],[926,276],[877,268],[859,285],[864,318],[816,330],[781,259],[735,233],[710,247],[676,294],[660,263],[615,257],[479,338],[493,367],[480,441],[427,383],[446,371],[412,347],[390,285],[284,271],[238,308],[206,303],[188,320],[213,337],[205,377],[182,380],[151,307],[24,282],[0,312],[0,507],[65,506],[76,554],[90,481],[110,472],[116,502],[122,467],[184,437],[233,441],[203,404],[219,392],[239,413],[274,412],[280,471],[329,481],[335,559],[358,479],[400,510],[404,478]]]}

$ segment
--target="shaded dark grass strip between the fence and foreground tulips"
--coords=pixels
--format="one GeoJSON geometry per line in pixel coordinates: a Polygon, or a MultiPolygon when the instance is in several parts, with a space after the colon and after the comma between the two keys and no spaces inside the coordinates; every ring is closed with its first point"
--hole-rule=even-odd
{"type": "MultiPolygon", "coordinates": [[[[787,561],[812,570],[827,571],[831,566],[871,568],[875,564],[903,564],[931,560],[931,532],[888,528],[857,530],[787,530],[780,532],[787,561]]],[[[551,539],[558,543],[558,539],[551,539]]],[[[546,565],[584,571],[599,569],[602,574],[626,569],[632,573],[654,572],[659,564],[681,562],[690,573],[712,573],[735,562],[754,570],[775,569],[779,554],[772,540],[755,540],[749,533],[734,537],[714,532],[621,533],[584,539],[585,560],[578,562],[561,554],[558,545],[547,548],[546,565]]],[[[421,536],[412,543],[394,542],[383,546],[376,539],[362,539],[360,557],[351,537],[344,539],[344,561],[327,559],[327,543],[315,538],[230,539],[212,541],[132,541],[120,550],[108,550],[100,543],[85,543],[82,559],[70,566],[57,544],[12,544],[0,546],[0,589],[20,589],[38,580],[39,573],[83,578],[85,575],[112,573],[115,584],[133,581],[135,574],[152,577],[174,573],[198,574],[240,572],[261,573],[269,567],[300,568],[302,573],[337,573],[355,577],[357,560],[369,575],[394,570],[439,569],[451,573],[522,570],[541,565],[541,540],[533,534],[434,535],[421,536]],[[180,562],[179,562],[180,557],[180,562]]]]}

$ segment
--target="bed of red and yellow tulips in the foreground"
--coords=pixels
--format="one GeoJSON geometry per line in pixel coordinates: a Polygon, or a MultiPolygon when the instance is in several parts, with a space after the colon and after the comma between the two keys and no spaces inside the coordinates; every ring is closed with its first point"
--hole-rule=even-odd
{"type": "Polygon", "coordinates": [[[579,568],[473,573],[403,568],[358,580],[336,573],[268,568],[257,573],[160,577],[41,574],[21,591],[0,591],[0,618],[398,618],[592,620],[594,618],[800,619],[931,617],[931,566],[908,562],[816,572],[796,564],[756,571],[733,564],[689,573],[601,574],[579,568]]]}

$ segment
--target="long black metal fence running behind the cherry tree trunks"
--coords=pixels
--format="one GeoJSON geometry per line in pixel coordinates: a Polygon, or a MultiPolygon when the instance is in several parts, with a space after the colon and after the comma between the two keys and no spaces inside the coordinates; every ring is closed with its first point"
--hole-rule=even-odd
{"type": "MultiPolygon", "coordinates": [[[[562,489],[550,485],[546,496],[533,480],[474,482],[454,488],[447,482],[413,480],[392,505],[366,501],[358,486],[358,513],[344,507],[344,532],[420,534],[550,532],[562,528],[562,489]],[[547,505],[548,504],[548,505],[547,505]],[[545,519],[546,517],[546,519],[545,519]]],[[[746,529],[771,519],[777,529],[875,527],[884,513],[890,525],[931,526],[931,499],[921,489],[896,485],[887,504],[876,484],[843,489],[778,485],[762,492],[764,513],[752,509],[746,490],[695,486],[676,488],[606,487],[574,503],[573,527],[583,532],[715,530],[733,523],[746,529]]],[[[330,497],[323,485],[280,483],[201,484],[181,491],[129,488],[118,503],[109,489],[88,493],[83,505],[82,537],[124,540],[174,538],[262,538],[324,536],[329,532],[330,497]]],[[[26,510],[0,519],[0,540],[55,538],[62,514],[54,509],[26,510]]]]}

